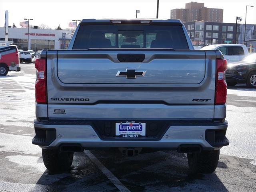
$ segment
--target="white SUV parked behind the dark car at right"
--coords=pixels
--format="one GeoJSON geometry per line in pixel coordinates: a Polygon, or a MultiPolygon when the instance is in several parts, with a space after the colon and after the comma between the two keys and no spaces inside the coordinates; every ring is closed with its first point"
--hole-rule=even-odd
{"type": "Polygon", "coordinates": [[[201,50],[220,50],[228,63],[241,61],[248,55],[248,49],[241,44],[208,45],[201,50]]]}

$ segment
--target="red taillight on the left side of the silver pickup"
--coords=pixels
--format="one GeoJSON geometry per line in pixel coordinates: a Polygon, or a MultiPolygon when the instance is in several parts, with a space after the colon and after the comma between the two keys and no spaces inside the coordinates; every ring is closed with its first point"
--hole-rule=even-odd
{"type": "Polygon", "coordinates": [[[46,87],[46,59],[40,58],[36,60],[36,102],[41,104],[47,103],[47,87],[46,87]]]}

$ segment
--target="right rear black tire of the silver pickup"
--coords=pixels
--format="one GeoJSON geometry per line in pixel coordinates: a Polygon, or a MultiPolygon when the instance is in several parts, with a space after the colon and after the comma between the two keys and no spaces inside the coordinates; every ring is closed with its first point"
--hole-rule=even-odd
{"type": "Polygon", "coordinates": [[[220,150],[187,154],[190,173],[196,174],[214,172],[218,166],[219,156],[220,150]]]}

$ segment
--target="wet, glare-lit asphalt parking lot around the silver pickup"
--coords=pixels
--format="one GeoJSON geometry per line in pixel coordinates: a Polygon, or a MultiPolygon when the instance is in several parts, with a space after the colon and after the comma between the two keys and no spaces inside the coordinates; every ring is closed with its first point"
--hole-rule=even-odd
{"type": "Polygon", "coordinates": [[[188,175],[185,154],[160,151],[122,157],[75,153],[72,170],[50,174],[32,145],[34,64],[0,77],[0,191],[256,191],[256,90],[228,88],[227,137],[213,174],[188,175]]]}

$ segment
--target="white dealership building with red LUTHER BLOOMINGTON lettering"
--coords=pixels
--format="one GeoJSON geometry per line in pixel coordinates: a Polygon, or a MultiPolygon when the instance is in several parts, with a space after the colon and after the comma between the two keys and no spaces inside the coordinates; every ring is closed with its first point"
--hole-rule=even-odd
{"type": "MultiPolygon", "coordinates": [[[[0,27],[0,40],[5,40],[4,27],[0,27]]],[[[30,49],[66,49],[71,36],[68,30],[29,29],[30,49]],[[65,34],[66,33],[66,34],[65,34]],[[66,38],[65,38],[66,37],[66,38]]],[[[28,50],[28,28],[8,28],[8,40],[18,49],[28,50]]]]}

